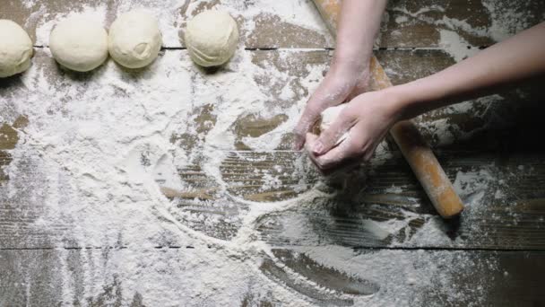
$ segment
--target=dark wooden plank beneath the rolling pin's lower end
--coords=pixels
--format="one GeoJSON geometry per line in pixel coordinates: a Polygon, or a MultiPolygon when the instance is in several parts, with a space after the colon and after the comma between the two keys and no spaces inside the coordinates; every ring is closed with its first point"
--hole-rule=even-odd
{"type": "Polygon", "coordinates": [[[490,154],[438,156],[468,206],[455,223],[437,218],[408,166],[397,157],[368,164],[362,176],[367,180],[346,176],[347,183],[336,190],[337,196],[307,200],[264,216],[257,228],[273,246],[545,250],[542,153],[514,154],[511,162],[501,165],[491,165],[490,154]],[[521,171],[519,165],[532,172],[521,171]],[[475,178],[464,180],[468,173],[475,178]],[[506,196],[498,198],[498,193],[506,196]]]}

